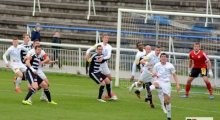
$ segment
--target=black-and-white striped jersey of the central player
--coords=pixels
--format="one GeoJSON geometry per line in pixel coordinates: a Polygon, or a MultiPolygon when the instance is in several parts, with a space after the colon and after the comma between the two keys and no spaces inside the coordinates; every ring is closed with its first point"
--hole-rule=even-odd
{"type": "Polygon", "coordinates": [[[98,55],[98,53],[94,53],[89,59],[88,62],[90,63],[89,73],[98,73],[100,72],[100,65],[104,63],[106,60],[103,59],[102,62],[98,62],[99,58],[104,57],[103,54],[98,55]]]}

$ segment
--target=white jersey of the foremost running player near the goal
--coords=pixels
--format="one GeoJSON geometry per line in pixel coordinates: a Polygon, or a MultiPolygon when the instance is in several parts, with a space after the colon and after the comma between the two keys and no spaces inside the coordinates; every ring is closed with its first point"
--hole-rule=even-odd
{"type": "Polygon", "coordinates": [[[165,65],[162,65],[161,62],[159,62],[154,66],[153,72],[157,74],[157,80],[168,82],[170,81],[171,74],[175,73],[176,70],[169,62],[166,62],[165,65]]]}

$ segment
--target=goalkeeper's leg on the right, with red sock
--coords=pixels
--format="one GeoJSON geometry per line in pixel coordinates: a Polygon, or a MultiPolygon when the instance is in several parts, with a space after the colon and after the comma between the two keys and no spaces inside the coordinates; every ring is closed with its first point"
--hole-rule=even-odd
{"type": "Polygon", "coordinates": [[[205,82],[205,84],[206,84],[206,88],[207,88],[208,91],[209,91],[209,94],[210,94],[209,98],[212,100],[212,99],[214,99],[214,96],[213,96],[213,94],[212,94],[212,85],[211,85],[211,83],[210,83],[209,80],[208,80],[208,71],[207,71],[207,68],[202,68],[202,69],[201,69],[201,74],[202,74],[202,78],[203,78],[203,80],[204,80],[204,82],[205,82]]]}

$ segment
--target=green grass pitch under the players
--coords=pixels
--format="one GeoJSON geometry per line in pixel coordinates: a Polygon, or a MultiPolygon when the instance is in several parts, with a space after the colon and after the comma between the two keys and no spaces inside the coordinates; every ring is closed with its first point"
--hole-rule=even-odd
{"type": "MultiPolygon", "coordinates": [[[[128,89],[113,87],[117,101],[97,102],[99,85],[88,77],[68,74],[46,74],[51,85],[52,100],[58,105],[40,101],[41,90],[33,97],[33,105],[22,105],[27,94],[27,83],[22,81],[22,93],[14,91],[11,71],[0,70],[0,120],[166,120],[160,109],[157,92],[153,92],[155,109],[144,102],[145,92],[138,99],[128,89]]],[[[220,96],[209,100],[207,94],[191,94],[182,99],[182,93],[172,92],[172,120],[185,117],[214,117],[220,120],[220,96]]]]}

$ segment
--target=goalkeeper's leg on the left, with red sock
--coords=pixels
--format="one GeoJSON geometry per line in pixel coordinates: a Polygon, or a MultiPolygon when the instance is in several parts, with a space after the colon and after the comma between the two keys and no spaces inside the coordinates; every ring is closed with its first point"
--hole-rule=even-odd
{"type": "Polygon", "coordinates": [[[187,79],[187,83],[186,83],[186,88],[185,88],[185,94],[181,96],[181,98],[188,98],[189,95],[189,91],[191,88],[191,83],[194,80],[195,77],[198,77],[199,73],[200,73],[200,69],[197,68],[193,68],[189,74],[189,77],[187,79]]]}

